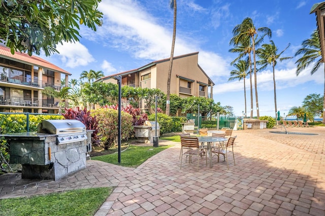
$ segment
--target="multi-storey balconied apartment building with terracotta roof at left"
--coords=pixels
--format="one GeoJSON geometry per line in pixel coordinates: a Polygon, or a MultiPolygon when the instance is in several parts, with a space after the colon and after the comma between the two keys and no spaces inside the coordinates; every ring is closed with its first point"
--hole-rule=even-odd
{"type": "Polygon", "coordinates": [[[0,112],[57,113],[59,101],[42,95],[51,86],[60,91],[71,75],[50,62],[25,53],[11,54],[0,45],[0,112]]]}

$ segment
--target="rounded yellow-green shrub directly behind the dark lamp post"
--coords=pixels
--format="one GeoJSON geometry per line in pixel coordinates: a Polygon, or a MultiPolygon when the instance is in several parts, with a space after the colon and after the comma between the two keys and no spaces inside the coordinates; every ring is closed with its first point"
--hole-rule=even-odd
{"type": "MultiPolygon", "coordinates": [[[[91,116],[96,116],[99,125],[99,135],[105,149],[109,149],[116,144],[118,136],[118,110],[101,108],[91,110],[91,116]]],[[[128,139],[132,133],[132,115],[121,111],[121,139],[128,139]]]]}

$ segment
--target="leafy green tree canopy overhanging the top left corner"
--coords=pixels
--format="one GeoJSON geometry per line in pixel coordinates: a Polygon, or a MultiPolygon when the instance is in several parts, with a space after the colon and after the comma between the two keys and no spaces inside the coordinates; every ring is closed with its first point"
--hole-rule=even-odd
{"type": "Polygon", "coordinates": [[[0,43],[31,56],[58,52],[62,42],[79,41],[79,24],[96,31],[101,0],[0,1],[0,43]]]}

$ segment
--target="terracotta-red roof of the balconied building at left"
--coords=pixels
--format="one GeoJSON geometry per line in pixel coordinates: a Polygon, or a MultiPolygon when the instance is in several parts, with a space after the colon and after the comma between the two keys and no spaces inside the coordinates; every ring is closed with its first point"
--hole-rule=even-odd
{"type": "Polygon", "coordinates": [[[24,64],[28,64],[28,65],[36,65],[36,66],[39,66],[42,68],[54,70],[56,72],[71,75],[71,73],[69,73],[68,71],[63,70],[62,68],[59,68],[58,66],[40,58],[40,57],[29,56],[28,54],[20,53],[20,52],[15,52],[15,54],[12,55],[10,52],[10,48],[4,47],[2,45],[0,45],[0,57],[15,60],[15,61],[18,61],[18,62],[21,62],[24,64]]]}

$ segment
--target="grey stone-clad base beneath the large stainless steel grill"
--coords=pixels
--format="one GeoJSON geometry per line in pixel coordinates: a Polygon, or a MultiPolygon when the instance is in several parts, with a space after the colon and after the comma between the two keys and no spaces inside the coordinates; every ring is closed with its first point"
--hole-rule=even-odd
{"type": "Polygon", "coordinates": [[[92,131],[87,132],[85,141],[60,145],[56,145],[56,136],[51,135],[11,139],[10,163],[22,164],[23,179],[60,179],[86,167],[86,153],[91,151],[91,134],[92,131]]]}

